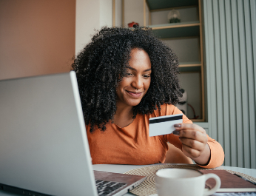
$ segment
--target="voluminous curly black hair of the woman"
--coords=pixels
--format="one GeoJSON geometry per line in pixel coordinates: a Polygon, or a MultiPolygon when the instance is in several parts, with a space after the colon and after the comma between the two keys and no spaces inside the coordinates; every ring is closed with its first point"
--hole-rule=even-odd
{"type": "Polygon", "coordinates": [[[90,132],[98,127],[104,131],[116,112],[116,87],[124,77],[130,52],[145,50],[151,61],[151,83],[140,104],[133,107],[138,113],[151,114],[162,104],[176,104],[182,97],[178,82],[178,59],[147,27],[103,27],[92,37],[90,44],[76,56],[72,64],[85,124],[90,132]]]}

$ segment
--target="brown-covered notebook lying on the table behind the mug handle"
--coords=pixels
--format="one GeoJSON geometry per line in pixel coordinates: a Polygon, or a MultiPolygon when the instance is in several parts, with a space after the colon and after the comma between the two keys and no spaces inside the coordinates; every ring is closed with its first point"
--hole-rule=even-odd
{"type": "MultiPolygon", "coordinates": [[[[217,192],[256,192],[256,185],[253,182],[244,180],[226,170],[200,170],[203,174],[214,173],[221,180],[220,189],[217,192]]],[[[206,188],[211,189],[215,186],[215,180],[206,181],[206,188]]]]}

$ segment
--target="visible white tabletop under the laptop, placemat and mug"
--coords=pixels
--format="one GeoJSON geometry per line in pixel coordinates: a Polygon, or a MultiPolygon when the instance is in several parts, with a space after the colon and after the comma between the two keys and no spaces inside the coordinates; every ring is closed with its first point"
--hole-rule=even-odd
{"type": "MultiPolygon", "coordinates": [[[[103,172],[116,172],[116,173],[124,173],[131,169],[137,169],[145,166],[133,166],[133,165],[93,165],[94,170],[103,171],[103,172]]],[[[246,175],[250,175],[256,178],[256,169],[246,169],[240,167],[233,167],[233,166],[220,166],[218,169],[228,169],[235,172],[240,172],[246,175]]],[[[124,196],[131,196],[133,194],[125,194],[124,196]]],[[[16,194],[11,194],[7,192],[0,191],[0,196],[19,196],[16,194]]]]}

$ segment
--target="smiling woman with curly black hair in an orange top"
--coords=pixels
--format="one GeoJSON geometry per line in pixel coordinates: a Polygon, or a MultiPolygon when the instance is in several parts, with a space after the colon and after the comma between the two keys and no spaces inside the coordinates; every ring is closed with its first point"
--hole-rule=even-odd
{"type": "Polygon", "coordinates": [[[149,137],[149,118],[181,114],[178,60],[146,27],[104,27],[73,63],[92,163],[164,163],[167,141],[206,168],[224,153],[185,115],[169,135],[149,137]]]}

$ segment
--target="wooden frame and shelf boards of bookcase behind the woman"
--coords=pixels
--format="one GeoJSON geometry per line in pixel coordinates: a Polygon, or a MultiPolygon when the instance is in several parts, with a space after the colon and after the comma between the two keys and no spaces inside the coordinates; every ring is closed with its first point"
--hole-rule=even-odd
{"type": "Polygon", "coordinates": [[[192,121],[205,121],[205,103],[204,103],[204,75],[203,75],[203,36],[201,19],[201,0],[144,0],[144,26],[146,26],[146,7],[149,10],[149,27],[159,38],[188,38],[198,37],[200,41],[199,53],[200,61],[180,62],[180,71],[182,73],[198,72],[200,75],[201,97],[201,118],[192,121]],[[182,9],[184,7],[198,7],[198,21],[181,21],[172,24],[154,24],[150,25],[152,12],[161,12],[172,9],[182,9]]]}

